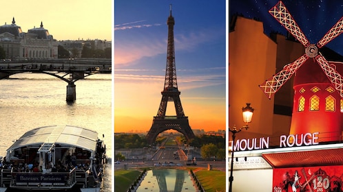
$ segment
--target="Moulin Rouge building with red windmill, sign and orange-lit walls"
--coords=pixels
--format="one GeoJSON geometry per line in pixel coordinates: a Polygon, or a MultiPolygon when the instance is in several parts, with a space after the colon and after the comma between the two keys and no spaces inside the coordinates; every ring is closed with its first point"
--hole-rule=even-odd
{"type": "Polygon", "coordinates": [[[343,17],[313,43],[282,2],[269,12],[289,36],[267,36],[242,16],[230,23],[230,128],[240,127],[245,103],[255,108],[234,145],[229,135],[232,191],[343,191],[343,57],[325,47],[343,17]]]}

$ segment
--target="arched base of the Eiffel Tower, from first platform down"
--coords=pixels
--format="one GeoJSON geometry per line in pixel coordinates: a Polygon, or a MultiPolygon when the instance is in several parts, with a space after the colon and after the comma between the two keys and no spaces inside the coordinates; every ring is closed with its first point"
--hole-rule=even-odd
{"type": "Polygon", "coordinates": [[[176,130],[183,134],[189,141],[194,138],[194,132],[189,126],[188,119],[154,119],[152,128],[147,133],[147,143],[150,145],[156,141],[156,137],[166,130],[176,130]]]}

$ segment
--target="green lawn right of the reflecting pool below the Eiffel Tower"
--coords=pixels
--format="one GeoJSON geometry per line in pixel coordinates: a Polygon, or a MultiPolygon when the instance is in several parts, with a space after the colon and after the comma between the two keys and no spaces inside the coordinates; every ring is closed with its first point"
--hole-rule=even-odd
{"type": "Polygon", "coordinates": [[[203,170],[196,171],[196,178],[198,178],[202,187],[206,192],[216,192],[222,191],[225,192],[226,188],[226,173],[225,171],[216,171],[216,170],[203,170]]]}

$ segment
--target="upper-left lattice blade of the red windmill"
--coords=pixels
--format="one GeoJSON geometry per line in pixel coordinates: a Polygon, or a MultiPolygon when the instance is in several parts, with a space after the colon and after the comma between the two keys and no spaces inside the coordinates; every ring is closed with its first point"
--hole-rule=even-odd
{"type": "Polygon", "coordinates": [[[269,10],[269,13],[281,23],[282,26],[284,26],[287,31],[289,31],[295,38],[299,40],[304,47],[308,47],[310,45],[309,40],[307,40],[306,36],[300,29],[297,23],[295,23],[293,17],[287,10],[287,8],[284,6],[284,3],[282,1],[279,1],[271,10],[269,10]]]}

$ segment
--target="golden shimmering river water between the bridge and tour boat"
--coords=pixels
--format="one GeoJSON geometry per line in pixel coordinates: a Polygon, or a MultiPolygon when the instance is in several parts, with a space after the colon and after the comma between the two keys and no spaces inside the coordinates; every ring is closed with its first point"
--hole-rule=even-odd
{"type": "MultiPolygon", "coordinates": [[[[45,125],[75,125],[105,135],[112,156],[112,75],[96,74],[75,82],[76,101],[67,104],[67,83],[52,75],[19,73],[0,80],[0,156],[28,130],[45,125]]],[[[112,189],[112,169],[105,169],[103,191],[112,189]]]]}

